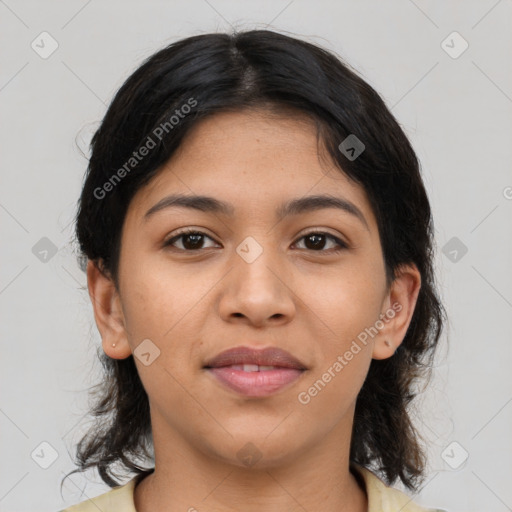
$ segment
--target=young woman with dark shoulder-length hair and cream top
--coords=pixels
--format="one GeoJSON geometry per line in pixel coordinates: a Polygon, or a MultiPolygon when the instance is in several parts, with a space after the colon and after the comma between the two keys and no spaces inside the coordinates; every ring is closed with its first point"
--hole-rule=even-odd
{"type": "Polygon", "coordinates": [[[390,487],[425,471],[430,205],[337,57],[265,30],[151,56],[93,138],[76,233],[105,367],[77,464],[115,489],[67,511],[433,510],[390,487]]]}

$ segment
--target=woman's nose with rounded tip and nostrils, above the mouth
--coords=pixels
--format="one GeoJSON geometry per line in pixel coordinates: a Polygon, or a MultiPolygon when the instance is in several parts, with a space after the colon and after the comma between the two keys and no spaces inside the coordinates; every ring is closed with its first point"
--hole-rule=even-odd
{"type": "Polygon", "coordinates": [[[234,253],[233,267],[223,279],[219,314],[227,322],[255,327],[281,325],[295,316],[290,272],[264,250],[251,263],[234,253]]]}

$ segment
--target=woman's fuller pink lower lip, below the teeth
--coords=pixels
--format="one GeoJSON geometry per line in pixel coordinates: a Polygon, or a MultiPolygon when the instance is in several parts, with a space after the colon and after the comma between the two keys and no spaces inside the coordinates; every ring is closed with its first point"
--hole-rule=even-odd
{"type": "Polygon", "coordinates": [[[295,382],[303,370],[281,368],[262,372],[246,372],[229,367],[208,368],[221,383],[245,396],[268,396],[295,382]]]}

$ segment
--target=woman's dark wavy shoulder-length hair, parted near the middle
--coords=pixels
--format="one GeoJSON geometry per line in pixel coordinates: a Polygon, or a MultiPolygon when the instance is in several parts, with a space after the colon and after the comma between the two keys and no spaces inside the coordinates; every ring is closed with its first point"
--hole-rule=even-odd
{"type": "MultiPolygon", "coordinates": [[[[388,284],[402,264],[414,263],[421,274],[402,344],[394,356],[371,362],[350,448],[351,461],[388,484],[399,478],[416,489],[426,458],[409,405],[417,384],[430,378],[445,320],[435,287],[431,209],[406,135],[378,93],[337,56],[300,39],[254,30],[189,37],[147,59],[117,92],[92,139],[76,217],[81,263],[94,261],[118,286],[121,228],[134,194],[206,116],[269,106],[313,119],[340,172],[364,187],[378,221],[388,284]],[[193,108],[179,115],[186,104],[193,108]],[[173,115],[179,122],[170,121],[173,115]],[[365,145],[355,159],[339,149],[349,135],[365,145]],[[148,137],[155,144],[149,154],[130,160],[148,137]],[[122,179],[113,181],[114,175],[122,179]],[[107,182],[112,186],[105,187],[107,182]]],[[[116,464],[140,475],[154,470],[139,464],[152,458],[149,403],[133,356],[111,359],[100,347],[98,357],[105,375],[91,395],[95,423],[77,446],[78,469],[69,474],[96,468],[114,487],[116,464]]]]}

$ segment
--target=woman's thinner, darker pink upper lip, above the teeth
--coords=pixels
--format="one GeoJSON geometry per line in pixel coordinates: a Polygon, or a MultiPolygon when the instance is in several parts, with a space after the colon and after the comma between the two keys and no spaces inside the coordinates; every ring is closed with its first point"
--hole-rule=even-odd
{"type": "Polygon", "coordinates": [[[220,368],[234,364],[257,364],[258,366],[279,366],[306,370],[306,366],[301,361],[286,350],[277,347],[264,349],[244,346],[234,347],[209,359],[204,366],[205,368],[220,368]]]}

